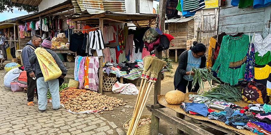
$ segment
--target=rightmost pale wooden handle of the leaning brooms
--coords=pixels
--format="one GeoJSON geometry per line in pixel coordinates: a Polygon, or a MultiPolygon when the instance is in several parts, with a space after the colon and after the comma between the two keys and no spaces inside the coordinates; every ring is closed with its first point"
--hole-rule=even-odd
{"type": "MultiPolygon", "coordinates": [[[[150,92],[151,92],[151,88],[152,88],[152,85],[154,84],[154,82],[150,82],[149,84],[148,84],[148,87],[147,87],[147,94],[144,96],[144,99],[143,99],[143,106],[141,105],[140,106],[140,109],[139,109],[139,113],[138,113],[138,115],[137,115],[137,119],[136,119],[136,122],[135,122],[135,124],[137,124],[138,125],[138,122],[139,122],[139,118],[140,118],[140,116],[142,115],[142,112],[143,112],[143,108],[144,108],[144,106],[145,106],[145,104],[146,104],[146,101],[147,101],[147,99],[148,99],[148,96],[149,96],[149,94],[150,94],[150,92]]],[[[132,134],[131,135],[134,135],[135,133],[136,133],[136,130],[137,130],[137,128],[138,128],[138,126],[135,126],[135,127],[133,127],[132,128],[132,134]]]]}

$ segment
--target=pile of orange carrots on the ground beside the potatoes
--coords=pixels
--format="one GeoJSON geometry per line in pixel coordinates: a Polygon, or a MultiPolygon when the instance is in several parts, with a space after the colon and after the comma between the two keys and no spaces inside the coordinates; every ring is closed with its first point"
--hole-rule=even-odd
{"type": "Polygon", "coordinates": [[[64,104],[66,101],[70,101],[69,98],[75,98],[84,93],[87,93],[85,89],[76,89],[75,87],[64,88],[60,91],[60,103],[64,104]]]}

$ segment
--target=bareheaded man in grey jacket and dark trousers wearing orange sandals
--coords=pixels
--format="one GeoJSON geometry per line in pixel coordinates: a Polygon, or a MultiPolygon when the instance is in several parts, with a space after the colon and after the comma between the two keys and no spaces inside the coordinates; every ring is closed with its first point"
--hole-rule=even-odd
{"type": "Polygon", "coordinates": [[[39,47],[41,44],[41,37],[39,35],[33,35],[31,37],[31,40],[26,43],[26,46],[22,50],[22,57],[23,57],[23,66],[24,70],[26,70],[26,76],[27,76],[27,105],[33,106],[34,103],[34,94],[35,94],[35,88],[37,93],[37,99],[38,99],[38,90],[36,85],[36,79],[33,79],[35,77],[35,64],[30,64],[29,57],[32,52],[36,49],[36,47],[39,47]]]}

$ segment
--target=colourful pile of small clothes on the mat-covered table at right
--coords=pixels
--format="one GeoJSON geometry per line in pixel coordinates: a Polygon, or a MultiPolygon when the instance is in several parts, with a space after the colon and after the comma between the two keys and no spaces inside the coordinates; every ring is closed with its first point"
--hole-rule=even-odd
{"type": "Polygon", "coordinates": [[[236,104],[213,101],[205,104],[182,103],[180,107],[189,114],[225,122],[237,129],[247,129],[255,134],[271,135],[271,105],[250,104],[239,107],[236,104]],[[214,111],[211,109],[220,110],[214,111]]]}

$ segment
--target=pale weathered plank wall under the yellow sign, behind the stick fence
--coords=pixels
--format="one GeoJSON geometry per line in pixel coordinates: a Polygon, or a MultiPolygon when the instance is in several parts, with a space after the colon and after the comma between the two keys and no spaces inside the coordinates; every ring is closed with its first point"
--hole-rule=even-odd
{"type": "Polygon", "coordinates": [[[203,23],[203,29],[208,29],[208,24],[211,22],[212,26],[218,24],[218,9],[217,8],[211,8],[211,9],[204,9],[199,10],[195,13],[194,16],[194,37],[196,37],[197,29],[201,27],[203,23]]]}

